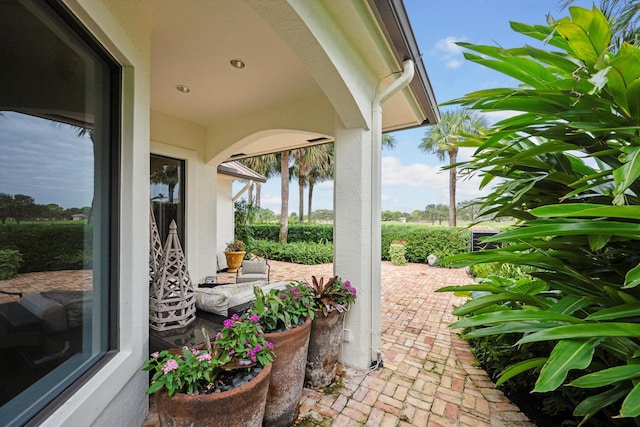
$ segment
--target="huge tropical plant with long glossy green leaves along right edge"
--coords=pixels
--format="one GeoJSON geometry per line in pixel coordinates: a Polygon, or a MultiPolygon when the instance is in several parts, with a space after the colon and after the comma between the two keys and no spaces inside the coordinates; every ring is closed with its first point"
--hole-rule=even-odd
{"type": "MultiPolygon", "coordinates": [[[[570,8],[549,25],[512,28],[550,48],[467,43],[467,59],[521,82],[452,101],[484,112],[511,110],[462,166],[494,185],[481,214],[512,216],[513,229],[486,241],[499,249],[458,255],[454,265],[524,264],[540,271],[442,291],[475,292],[455,310],[467,336],[519,334],[550,354],[506,369],[500,382],[537,370],[534,392],[586,392],[574,415],[640,416],[640,49],[613,50],[597,9],[570,8]]],[[[595,419],[595,418],[594,418],[595,419]]]]}

